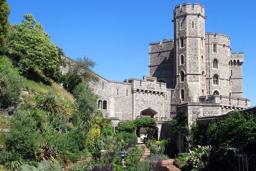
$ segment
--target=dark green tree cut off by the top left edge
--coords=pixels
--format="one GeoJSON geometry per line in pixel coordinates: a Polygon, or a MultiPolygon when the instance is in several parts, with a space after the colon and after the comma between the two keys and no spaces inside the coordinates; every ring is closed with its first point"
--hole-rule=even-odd
{"type": "Polygon", "coordinates": [[[0,45],[6,44],[8,28],[10,26],[8,18],[11,10],[6,0],[0,0],[0,45]]]}

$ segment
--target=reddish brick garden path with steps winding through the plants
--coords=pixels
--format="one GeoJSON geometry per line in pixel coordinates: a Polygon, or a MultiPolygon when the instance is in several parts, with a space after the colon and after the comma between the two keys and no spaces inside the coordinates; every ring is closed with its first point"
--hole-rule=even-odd
{"type": "MultiPolygon", "coordinates": [[[[138,137],[138,146],[143,146],[145,145],[143,140],[140,140],[140,137],[138,137]]],[[[148,148],[144,148],[144,154],[143,157],[140,160],[145,159],[146,157],[150,156],[150,150],[148,148]]],[[[175,165],[173,165],[174,159],[168,159],[168,160],[163,160],[162,165],[166,166],[170,171],[180,171],[179,168],[177,168],[175,165]]]]}

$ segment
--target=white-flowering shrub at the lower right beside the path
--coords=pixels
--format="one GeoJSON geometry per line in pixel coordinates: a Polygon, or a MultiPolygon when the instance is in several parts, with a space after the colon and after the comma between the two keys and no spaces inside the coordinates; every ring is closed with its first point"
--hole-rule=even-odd
{"type": "Polygon", "coordinates": [[[208,165],[211,149],[211,145],[202,147],[198,145],[198,148],[194,148],[194,151],[189,150],[189,157],[186,158],[187,166],[193,168],[192,170],[203,170],[208,165]]]}

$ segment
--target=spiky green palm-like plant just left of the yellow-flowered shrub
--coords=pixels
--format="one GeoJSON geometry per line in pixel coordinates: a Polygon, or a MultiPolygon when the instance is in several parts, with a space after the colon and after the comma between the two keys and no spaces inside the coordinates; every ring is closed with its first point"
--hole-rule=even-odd
{"type": "Polygon", "coordinates": [[[90,109],[82,111],[79,115],[77,129],[87,133],[93,125],[93,114],[90,109]]]}

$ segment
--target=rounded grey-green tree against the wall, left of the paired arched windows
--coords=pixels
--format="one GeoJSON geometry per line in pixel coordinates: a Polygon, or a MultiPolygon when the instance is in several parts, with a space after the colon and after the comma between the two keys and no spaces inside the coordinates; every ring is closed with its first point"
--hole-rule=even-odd
{"type": "Polygon", "coordinates": [[[80,111],[89,109],[91,113],[95,112],[97,97],[93,94],[89,84],[85,81],[81,82],[76,86],[73,95],[76,98],[76,105],[80,111]]]}

